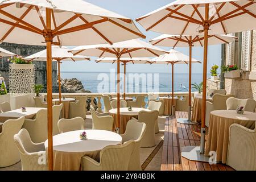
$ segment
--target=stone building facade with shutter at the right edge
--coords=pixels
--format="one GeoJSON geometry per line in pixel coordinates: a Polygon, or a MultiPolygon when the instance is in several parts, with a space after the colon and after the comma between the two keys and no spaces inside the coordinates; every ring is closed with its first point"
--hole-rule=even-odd
{"type": "Polygon", "coordinates": [[[256,100],[256,30],[233,34],[239,39],[226,45],[225,64],[237,64],[240,78],[225,78],[225,89],[237,98],[256,100]]]}

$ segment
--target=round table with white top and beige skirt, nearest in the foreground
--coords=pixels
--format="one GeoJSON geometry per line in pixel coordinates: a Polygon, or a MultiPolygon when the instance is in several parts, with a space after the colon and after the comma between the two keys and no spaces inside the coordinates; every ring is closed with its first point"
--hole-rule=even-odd
{"type": "MultiPolygon", "coordinates": [[[[99,161],[100,151],[109,145],[122,144],[122,137],[105,130],[80,130],[53,136],[53,169],[55,171],[79,171],[84,155],[99,161]],[[86,140],[80,133],[87,134],[86,140]]],[[[48,146],[48,140],[44,143],[48,146]]]]}

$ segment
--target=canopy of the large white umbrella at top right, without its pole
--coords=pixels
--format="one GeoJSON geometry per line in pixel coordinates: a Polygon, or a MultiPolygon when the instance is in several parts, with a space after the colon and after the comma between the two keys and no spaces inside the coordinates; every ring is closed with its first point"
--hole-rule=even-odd
{"type": "Polygon", "coordinates": [[[177,0],[143,15],[137,22],[147,31],[199,35],[206,23],[205,4],[209,5],[209,35],[254,30],[256,27],[256,3],[247,0],[177,0]]]}

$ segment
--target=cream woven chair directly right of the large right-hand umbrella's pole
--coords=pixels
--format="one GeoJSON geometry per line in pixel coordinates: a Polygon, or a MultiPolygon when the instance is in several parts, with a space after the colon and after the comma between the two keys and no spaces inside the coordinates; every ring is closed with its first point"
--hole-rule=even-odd
{"type": "Polygon", "coordinates": [[[234,97],[233,94],[222,95],[222,94],[214,94],[212,101],[213,101],[213,110],[226,110],[226,100],[228,98],[234,97]]]}

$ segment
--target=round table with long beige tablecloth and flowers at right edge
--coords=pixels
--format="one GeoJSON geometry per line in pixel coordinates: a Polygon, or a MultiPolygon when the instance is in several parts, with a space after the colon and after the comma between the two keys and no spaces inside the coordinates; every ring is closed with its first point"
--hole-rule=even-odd
{"type": "Polygon", "coordinates": [[[216,151],[217,162],[226,164],[226,156],[229,144],[229,127],[236,123],[247,127],[255,128],[256,113],[245,111],[244,114],[237,114],[236,110],[214,110],[210,113],[208,139],[205,148],[205,155],[210,151],[216,151]]]}

